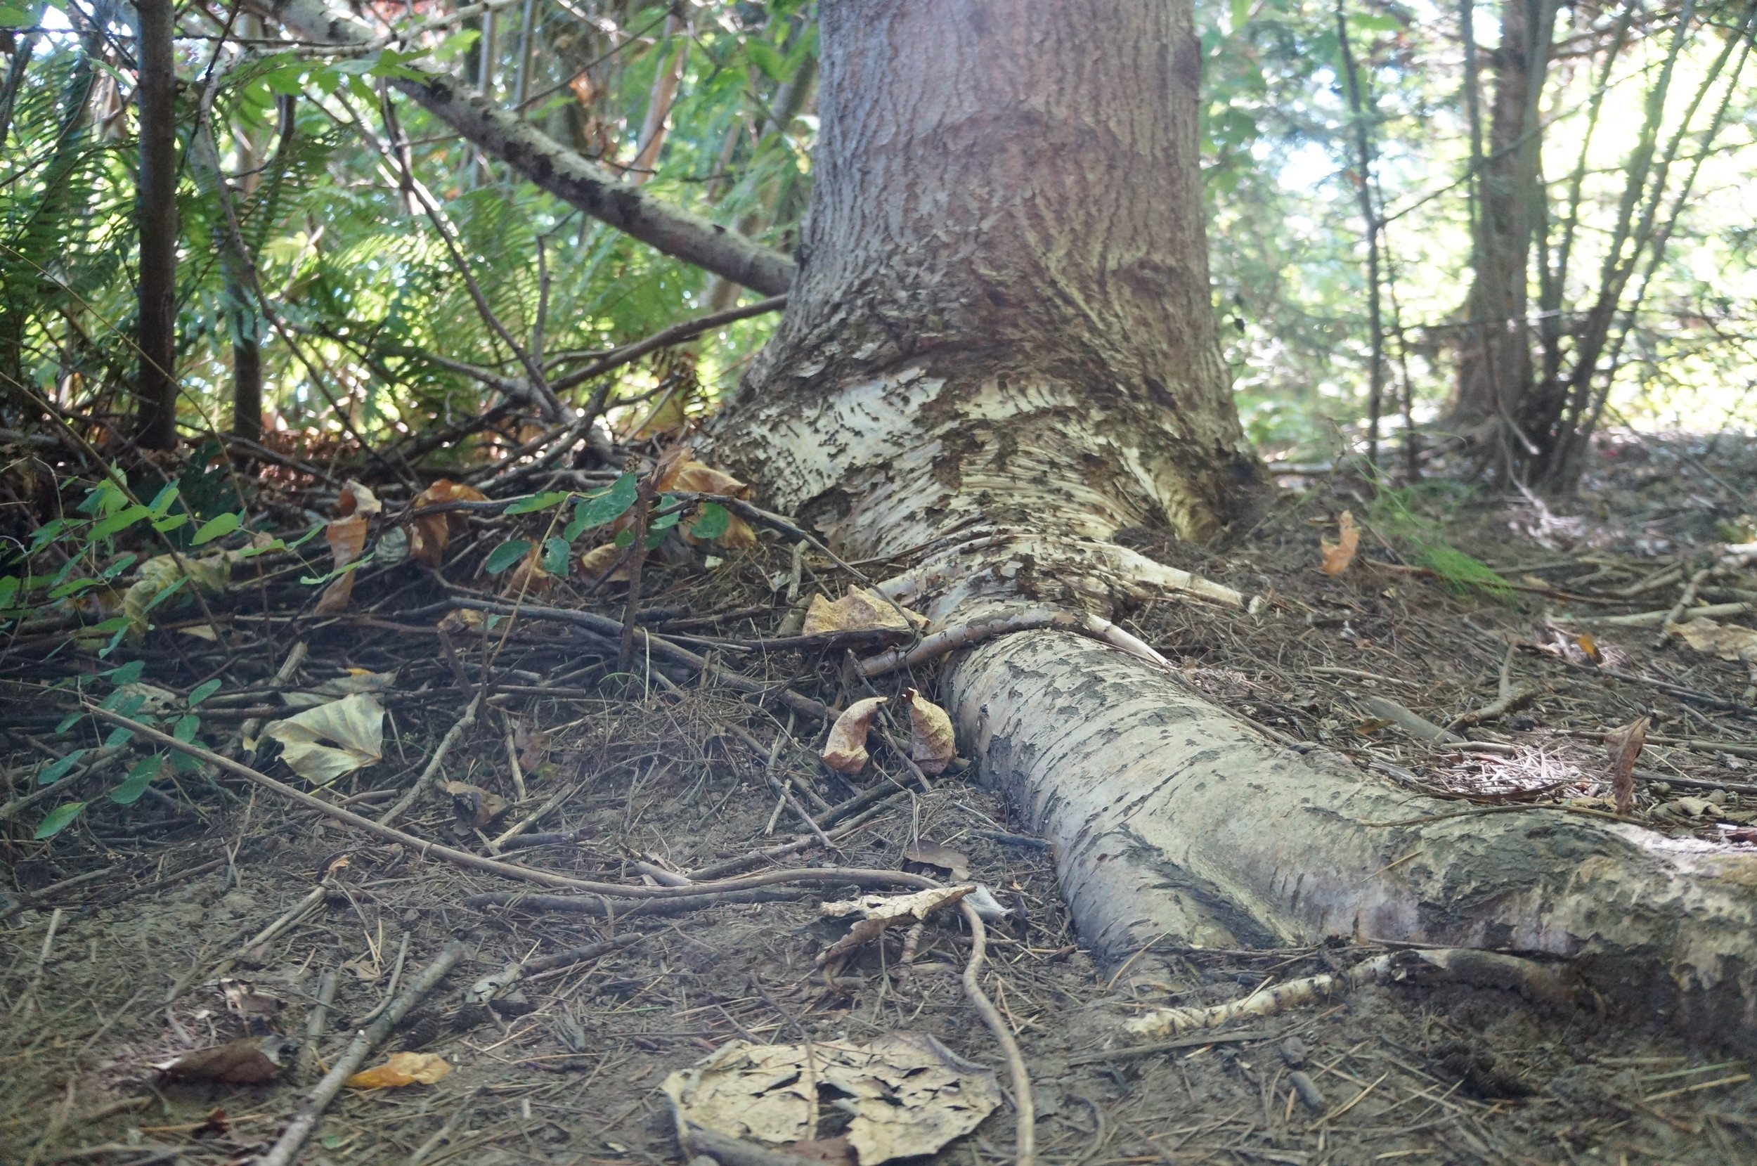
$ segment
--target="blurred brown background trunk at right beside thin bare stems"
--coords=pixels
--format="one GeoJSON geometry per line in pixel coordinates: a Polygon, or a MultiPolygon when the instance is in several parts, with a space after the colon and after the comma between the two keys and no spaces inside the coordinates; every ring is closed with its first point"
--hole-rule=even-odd
{"type": "Polygon", "coordinates": [[[1544,197],[1537,98],[1550,65],[1555,9],[1555,0],[1500,5],[1488,153],[1476,186],[1476,277],[1465,300],[1458,395],[1451,409],[1457,425],[1520,416],[1532,385],[1527,288],[1544,197]]]}

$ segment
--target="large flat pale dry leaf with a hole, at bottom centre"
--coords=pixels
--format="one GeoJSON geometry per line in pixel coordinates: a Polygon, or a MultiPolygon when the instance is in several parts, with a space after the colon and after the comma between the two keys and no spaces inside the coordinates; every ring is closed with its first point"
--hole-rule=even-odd
{"type": "MultiPolygon", "coordinates": [[[[664,1080],[678,1126],[745,1138],[789,1154],[815,1133],[819,1089],[852,1115],[842,1134],[859,1166],[936,1152],[1001,1103],[994,1069],[965,1061],[924,1033],[887,1033],[870,1045],[729,1041],[664,1080]]],[[[819,1143],[822,1145],[822,1143],[819,1143]]]]}

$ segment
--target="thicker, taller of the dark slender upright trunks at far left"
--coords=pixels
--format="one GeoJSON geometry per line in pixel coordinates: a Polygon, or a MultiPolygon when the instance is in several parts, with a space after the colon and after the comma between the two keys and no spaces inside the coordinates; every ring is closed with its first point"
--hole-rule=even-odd
{"type": "Polygon", "coordinates": [[[170,0],[139,0],[135,90],[141,118],[139,337],[141,372],[135,439],[148,450],[177,443],[177,72],[170,0]]]}

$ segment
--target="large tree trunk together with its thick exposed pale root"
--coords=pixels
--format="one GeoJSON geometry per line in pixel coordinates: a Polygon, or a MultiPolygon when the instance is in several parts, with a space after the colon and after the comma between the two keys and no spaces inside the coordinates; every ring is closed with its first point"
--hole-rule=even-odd
{"type": "MultiPolygon", "coordinates": [[[[880,588],[938,627],[1167,587],[1239,602],[1110,541],[1205,539],[1256,493],[1207,299],[1189,0],[821,19],[799,277],[712,457],[849,557],[912,551],[880,588]]],[[[1513,948],[1757,1048],[1753,859],[1562,810],[1460,817],[1065,632],[984,643],[944,692],[1112,966],[1156,938],[1513,948]]]]}

